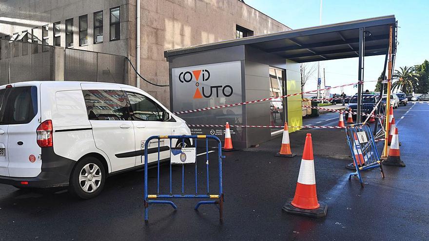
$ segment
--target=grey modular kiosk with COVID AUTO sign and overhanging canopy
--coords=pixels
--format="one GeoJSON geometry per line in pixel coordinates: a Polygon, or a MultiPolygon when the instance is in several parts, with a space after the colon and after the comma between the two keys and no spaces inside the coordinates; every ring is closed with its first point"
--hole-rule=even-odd
{"type": "MultiPolygon", "coordinates": [[[[165,51],[171,110],[195,110],[300,93],[300,63],[349,57],[359,57],[363,63],[364,56],[387,55],[390,44],[396,41],[395,31],[391,31],[395,26],[395,17],[385,16],[165,51]]],[[[362,80],[363,65],[356,69],[362,80]]],[[[180,117],[194,125],[229,122],[234,126],[282,126],[287,121],[289,126],[299,127],[301,98],[274,98],[180,117]]],[[[191,130],[193,134],[213,134],[222,139],[225,128],[191,130]]],[[[234,127],[231,132],[234,148],[247,148],[281,134],[282,129],[234,127]]]]}

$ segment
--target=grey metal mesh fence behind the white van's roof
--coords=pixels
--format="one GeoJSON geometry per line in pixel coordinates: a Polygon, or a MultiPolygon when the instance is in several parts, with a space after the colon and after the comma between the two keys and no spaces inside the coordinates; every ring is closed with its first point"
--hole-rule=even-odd
{"type": "Polygon", "coordinates": [[[0,39],[0,85],[34,80],[128,84],[125,56],[0,39]]]}

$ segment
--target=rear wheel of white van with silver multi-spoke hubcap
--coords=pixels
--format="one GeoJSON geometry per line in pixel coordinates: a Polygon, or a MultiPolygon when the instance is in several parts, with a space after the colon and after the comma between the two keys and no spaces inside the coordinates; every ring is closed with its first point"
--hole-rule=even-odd
{"type": "Polygon", "coordinates": [[[100,194],[105,181],[103,164],[95,157],[85,157],[72,171],[69,192],[81,199],[94,198],[100,194]]]}

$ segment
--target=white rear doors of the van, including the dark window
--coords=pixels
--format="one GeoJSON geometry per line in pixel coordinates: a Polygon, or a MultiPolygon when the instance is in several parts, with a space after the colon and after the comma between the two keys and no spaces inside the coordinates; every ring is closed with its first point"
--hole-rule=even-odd
{"type": "Polygon", "coordinates": [[[0,133],[4,131],[0,134],[2,176],[36,177],[41,171],[41,149],[36,142],[40,118],[38,92],[38,86],[26,83],[0,90],[0,133]]]}

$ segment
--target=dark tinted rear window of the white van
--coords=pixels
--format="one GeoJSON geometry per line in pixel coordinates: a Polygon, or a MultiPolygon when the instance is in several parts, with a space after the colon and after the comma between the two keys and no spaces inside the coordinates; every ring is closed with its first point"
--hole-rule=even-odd
{"type": "Polygon", "coordinates": [[[30,123],[37,112],[36,86],[0,90],[0,125],[30,123]]]}

